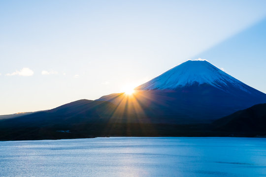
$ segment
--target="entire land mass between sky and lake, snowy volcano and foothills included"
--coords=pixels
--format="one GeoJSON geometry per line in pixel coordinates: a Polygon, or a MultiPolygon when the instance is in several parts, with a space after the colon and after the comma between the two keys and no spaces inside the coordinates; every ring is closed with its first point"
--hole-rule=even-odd
{"type": "Polygon", "coordinates": [[[0,116],[0,140],[108,136],[266,136],[266,94],[207,61],[186,61],[135,88],[55,109],[0,116]]]}

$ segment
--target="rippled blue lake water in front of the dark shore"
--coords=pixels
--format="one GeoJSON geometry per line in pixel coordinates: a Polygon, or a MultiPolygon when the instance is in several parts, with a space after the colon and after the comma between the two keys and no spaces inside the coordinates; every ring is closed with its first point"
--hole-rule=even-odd
{"type": "Polygon", "coordinates": [[[266,177],[266,138],[6,141],[0,177],[266,177]]]}

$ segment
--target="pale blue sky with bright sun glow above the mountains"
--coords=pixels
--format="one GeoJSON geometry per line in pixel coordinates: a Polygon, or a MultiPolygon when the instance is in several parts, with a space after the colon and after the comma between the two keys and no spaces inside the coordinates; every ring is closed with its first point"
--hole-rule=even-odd
{"type": "Polygon", "coordinates": [[[265,0],[0,0],[0,115],[124,92],[207,59],[266,93],[265,0]]]}

